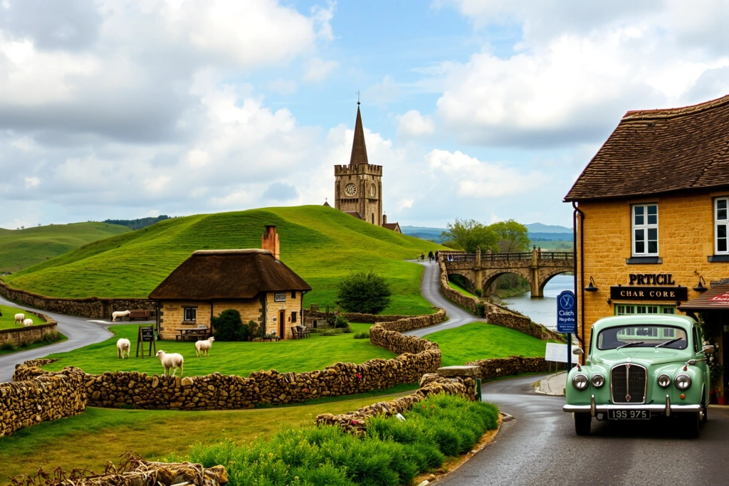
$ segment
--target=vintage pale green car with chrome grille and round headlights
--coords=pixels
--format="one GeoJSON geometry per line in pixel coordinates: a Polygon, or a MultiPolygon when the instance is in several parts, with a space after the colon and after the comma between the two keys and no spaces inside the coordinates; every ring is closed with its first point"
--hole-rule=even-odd
{"type": "MultiPolygon", "coordinates": [[[[567,375],[563,410],[574,415],[577,435],[597,420],[678,420],[698,436],[709,404],[709,367],[696,321],[682,315],[602,318],[592,329],[585,365],[567,375]]],[[[575,348],[577,356],[582,349],[575,348]]]]}

